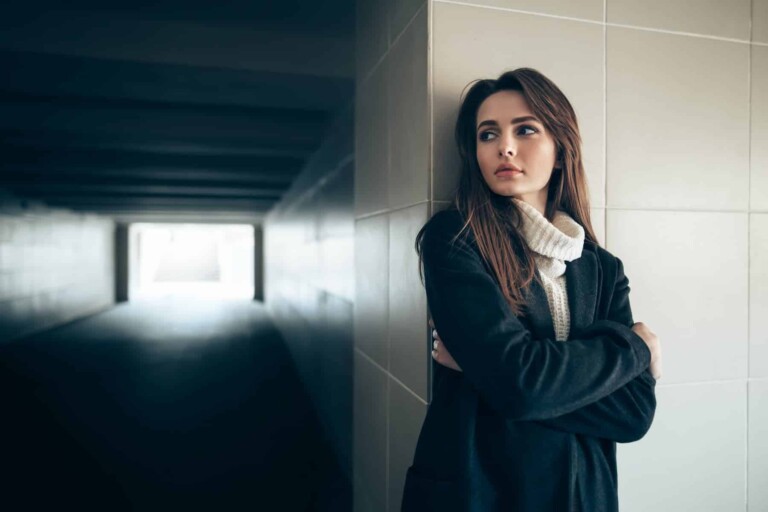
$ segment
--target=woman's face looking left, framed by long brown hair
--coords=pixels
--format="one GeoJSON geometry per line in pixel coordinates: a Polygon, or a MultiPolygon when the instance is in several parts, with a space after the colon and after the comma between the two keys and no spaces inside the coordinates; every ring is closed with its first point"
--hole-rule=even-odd
{"type": "Polygon", "coordinates": [[[555,166],[555,141],[518,91],[488,96],[477,110],[477,163],[496,194],[544,213],[555,166]]]}

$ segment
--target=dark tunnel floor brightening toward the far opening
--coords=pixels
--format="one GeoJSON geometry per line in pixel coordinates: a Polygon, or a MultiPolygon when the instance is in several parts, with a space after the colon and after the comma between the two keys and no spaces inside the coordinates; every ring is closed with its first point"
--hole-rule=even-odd
{"type": "Polygon", "coordinates": [[[0,508],[344,510],[264,306],[130,302],[0,346],[0,508]]]}

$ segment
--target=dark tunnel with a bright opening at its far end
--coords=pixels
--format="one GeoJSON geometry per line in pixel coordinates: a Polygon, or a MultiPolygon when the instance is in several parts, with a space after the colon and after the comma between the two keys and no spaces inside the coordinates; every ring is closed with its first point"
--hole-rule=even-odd
{"type": "Polygon", "coordinates": [[[352,257],[354,37],[353,0],[3,3],[0,509],[351,510],[354,276],[268,269],[318,191],[352,257]]]}

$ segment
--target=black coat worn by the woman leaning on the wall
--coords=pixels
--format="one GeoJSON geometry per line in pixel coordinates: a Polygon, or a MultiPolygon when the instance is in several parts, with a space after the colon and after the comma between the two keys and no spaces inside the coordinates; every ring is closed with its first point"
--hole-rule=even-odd
{"type": "Polygon", "coordinates": [[[456,210],[439,212],[423,239],[435,328],[463,372],[433,364],[402,510],[617,511],[616,442],[643,437],[656,408],[621,261],[585,241],[566,263],[560,342],[541,285],[515,316],[471,234],[451,245],[462,225],[456,210]]]}

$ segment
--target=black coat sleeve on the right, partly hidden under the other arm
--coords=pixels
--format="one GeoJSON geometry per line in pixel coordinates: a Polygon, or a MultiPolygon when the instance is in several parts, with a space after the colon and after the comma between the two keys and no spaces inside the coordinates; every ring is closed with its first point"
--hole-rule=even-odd
{"type": "MultiPolygon", "coordinates": [[[[621,260],[611,297],[608,319],[628,327],[634,324],[629,305],[629,280],[621,260]]],[[[541,421],[542,424],[574,434],[629,443],[641,439],[651,428],[656,412],[656,379],[649,369],[613,393],[568,414],[541,421]]]]}

